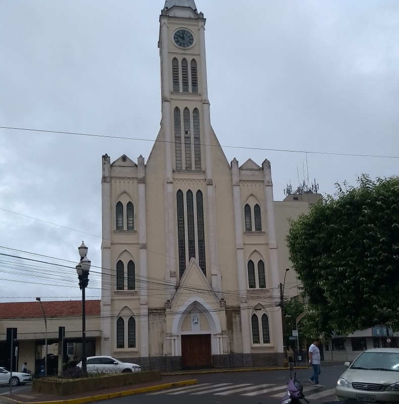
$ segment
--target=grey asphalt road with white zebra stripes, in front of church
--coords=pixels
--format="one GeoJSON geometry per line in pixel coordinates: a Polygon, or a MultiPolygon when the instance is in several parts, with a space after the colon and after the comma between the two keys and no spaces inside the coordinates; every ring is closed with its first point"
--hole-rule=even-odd
{"type": "MultiPolygon", "coordinates": [[[[317,388],[308,382],[311,369],[296,370],[296,378],[304,386],[311,403],[335,401],[335,385],[345,370],[343,364],[322,366],[317,388]]],[[[286,391],[289,370],[262,372],[228,372],[188,376],[197,385],[166,389],[127,397],[112,398],[107,404],[279,404],[286,391]]],[[[305,402],[304,402],[305,404],[305,402]]]]}

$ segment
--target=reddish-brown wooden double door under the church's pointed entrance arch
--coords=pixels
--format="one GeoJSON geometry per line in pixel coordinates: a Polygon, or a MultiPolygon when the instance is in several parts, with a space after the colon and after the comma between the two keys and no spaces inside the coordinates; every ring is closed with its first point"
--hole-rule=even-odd
{"type": "Polygon", "coordinates": [[[208,368],[212,366],[211,334],[181,336],[182,368],[208,368]]]}

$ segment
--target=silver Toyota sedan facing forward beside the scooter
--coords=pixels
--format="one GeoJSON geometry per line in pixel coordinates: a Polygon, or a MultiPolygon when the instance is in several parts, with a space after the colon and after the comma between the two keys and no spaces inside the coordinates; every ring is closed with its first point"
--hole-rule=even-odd
{"type": "Polygon", "coordinates": [[[338,400],[399,402],[399,348],[364,350],[337,381],[338,400]]]}

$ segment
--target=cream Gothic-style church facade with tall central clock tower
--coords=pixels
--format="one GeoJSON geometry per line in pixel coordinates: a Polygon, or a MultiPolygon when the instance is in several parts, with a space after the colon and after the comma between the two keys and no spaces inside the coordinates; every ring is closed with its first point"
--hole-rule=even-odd
{"type": "Polygon", "coordinates": [[[283,363],[268,160],[228,163],[210,122],[205,18],[160,16],[151,154],[102,159],[102,355],[143,369],[283,363]]]}

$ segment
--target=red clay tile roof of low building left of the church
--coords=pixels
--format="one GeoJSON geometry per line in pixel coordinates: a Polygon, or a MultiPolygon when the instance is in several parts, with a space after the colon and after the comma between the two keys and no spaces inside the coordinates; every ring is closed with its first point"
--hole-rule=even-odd
{"type": "MultiPolygon", "coordinates": [[[[41,301],[46,317],[68,317],[82,315],[81,300],[41,301]]],[[[86,300],[86,316],[99,316],[100,300],[86,300]]],[[[43,317],[38,301],[0,302],[0,319],[43,317]]]]}

